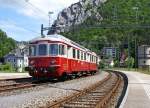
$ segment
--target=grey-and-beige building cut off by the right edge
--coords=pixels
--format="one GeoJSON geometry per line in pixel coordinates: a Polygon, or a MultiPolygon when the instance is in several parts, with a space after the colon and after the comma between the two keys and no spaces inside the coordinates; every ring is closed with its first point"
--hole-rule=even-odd
{"type": "Polygon", "coordinates": [[[138,67],[150,68],[150,45],[138,47],[138,67]]]}

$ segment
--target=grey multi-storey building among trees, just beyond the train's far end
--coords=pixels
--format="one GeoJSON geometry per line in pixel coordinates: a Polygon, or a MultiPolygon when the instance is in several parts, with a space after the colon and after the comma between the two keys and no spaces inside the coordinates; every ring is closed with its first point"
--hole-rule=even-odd
{"type": "Polygon", "coordinates": [[[103,57],[116,58],[117,50],[115,47],[104,47],[103,48],[103,57]]]}

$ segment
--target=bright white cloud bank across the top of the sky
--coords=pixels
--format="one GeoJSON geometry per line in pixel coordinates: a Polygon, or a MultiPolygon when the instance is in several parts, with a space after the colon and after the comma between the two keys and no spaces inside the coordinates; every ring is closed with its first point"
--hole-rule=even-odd
{"type": "Polygon", "coordinates": [[[63,9],[79,0],[0,0],[0,7],[16,10],[19,14],[48,21],[48,12],[53,11],[52,20],[63,9]]]}

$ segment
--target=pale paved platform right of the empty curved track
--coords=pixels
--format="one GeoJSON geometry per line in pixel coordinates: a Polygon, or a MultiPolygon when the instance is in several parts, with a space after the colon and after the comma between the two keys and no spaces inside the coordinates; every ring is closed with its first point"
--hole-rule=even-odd
{"type": "Polygon", "coordinates": [[[128,76],[129,87],[122,108],[150,108],[150,75],[121,71],[128,76]]]}

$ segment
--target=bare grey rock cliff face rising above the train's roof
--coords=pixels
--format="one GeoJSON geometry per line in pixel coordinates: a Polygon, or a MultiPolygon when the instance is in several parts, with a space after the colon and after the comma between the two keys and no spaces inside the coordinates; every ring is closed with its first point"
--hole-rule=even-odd
{"type": "Polygon", "coordinates": [[[97,12],[97,7],[106,0],[80,0],[72,4],[70,7],[63,9],[57,17],[57,20],[52,25],[53,32],[64,32],[69,27],[81,24],[88,17],[95,17],[97,20],[102,20],[101,15],[97,12]]]}

